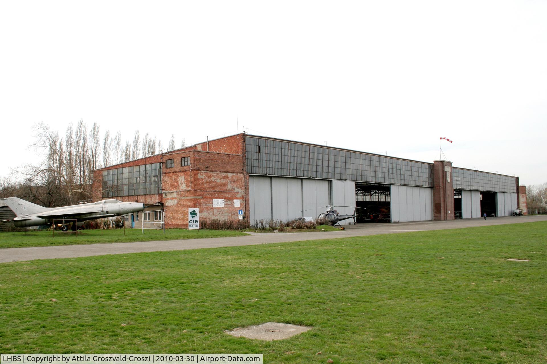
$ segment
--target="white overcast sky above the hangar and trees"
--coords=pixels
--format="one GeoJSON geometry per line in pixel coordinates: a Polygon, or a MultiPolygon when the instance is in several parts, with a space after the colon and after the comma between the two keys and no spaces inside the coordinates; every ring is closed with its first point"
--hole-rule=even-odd
{"type": "Polygon", "coordinates": [[[242,131],[547,181],[546,1],[0,3],[0,177],[32,126],[242,131]]]}

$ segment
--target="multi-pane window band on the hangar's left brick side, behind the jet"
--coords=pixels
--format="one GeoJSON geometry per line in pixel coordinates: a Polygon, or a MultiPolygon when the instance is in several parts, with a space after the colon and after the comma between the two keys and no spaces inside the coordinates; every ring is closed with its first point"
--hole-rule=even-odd
{"type": "Polygon", "coordinates": [[[161,193],[161,163],[105,169],[102,197],[161,193]]]}

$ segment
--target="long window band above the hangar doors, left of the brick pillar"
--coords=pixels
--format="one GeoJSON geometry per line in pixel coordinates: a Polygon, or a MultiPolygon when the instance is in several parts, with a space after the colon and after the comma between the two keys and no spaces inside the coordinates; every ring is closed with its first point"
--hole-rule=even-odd
{"type": "Polygon", "coordinates": [[[247,137],[247,172],[432,186],[432,165],[322,146],[247,137]]]}

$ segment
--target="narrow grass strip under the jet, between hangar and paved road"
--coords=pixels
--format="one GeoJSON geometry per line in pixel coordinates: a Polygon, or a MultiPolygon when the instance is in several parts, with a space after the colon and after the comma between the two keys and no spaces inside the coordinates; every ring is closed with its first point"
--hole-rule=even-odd
{"type": "MultiPolygon", "coordinates": [[[[150,242],[154,240],[176,240],[176,239],[197,239],[197,238],[220,238],[226,236],[246,236],[241,231],[230,230],[185,230],[166,229],[144,230],[141,229],[108,229],[103,230],[82,230],[75,232],[51,231],[28,231],[28,232],[1,232],[0,248],[26,248],[28,246],[50,246],[50,245],[75,245],[75,244],[98,244],[98,243],[126,243],[126,242],[150,242]]],[[[0,253],[1,254],[1,253],[0,253]]]]}

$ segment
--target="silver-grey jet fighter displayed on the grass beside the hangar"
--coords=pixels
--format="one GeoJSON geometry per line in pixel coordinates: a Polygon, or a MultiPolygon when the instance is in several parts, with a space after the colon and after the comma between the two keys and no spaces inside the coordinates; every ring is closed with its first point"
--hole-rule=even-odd
{"type": "MultiPolygon", "coordinates": [[[[111,218],[129,215],[144,210],[143,203],[121,202],[117,199],[103,199],[98,202],[83,203],[63,207],[42,207],[18,197],[2,198],[0,201],[17,215],[13,220],[16,227],[43,226],[53,224],[53,220],[62,221],[61,230],[67,231],[66,220],[77,220],[80,226],[85,220],[111,218]]],[[[73,226],[73,230],[76,227],[73,226]]]]}

